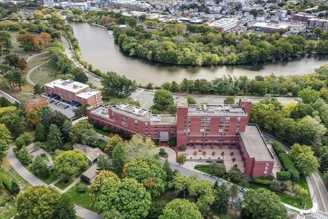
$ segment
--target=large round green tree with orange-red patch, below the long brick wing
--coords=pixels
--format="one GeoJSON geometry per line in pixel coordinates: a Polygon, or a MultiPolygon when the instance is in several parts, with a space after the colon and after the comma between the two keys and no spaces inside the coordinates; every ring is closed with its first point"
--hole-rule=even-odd
{"type": "Polygon", "coordinates": [[[145,186],[152,197],[160,196],[166,187],[166,172],[160,161],[153,157],[138,156],[123,169],[125,177],[135,178],[145,186]]]}

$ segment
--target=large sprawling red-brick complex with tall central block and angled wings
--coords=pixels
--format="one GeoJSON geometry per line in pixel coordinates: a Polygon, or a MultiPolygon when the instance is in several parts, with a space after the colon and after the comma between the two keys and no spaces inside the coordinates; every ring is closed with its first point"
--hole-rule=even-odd
{"type": "Polygon", "coordinates": [[[178,98],[176,104],[175,115],[155,115],[126,103],[89,107],[87,114],[89,121],[156,139],[160,145],[167,145],[175,136],[177,146],[183,145],[187,150],[235,150],[241,156],[245,173],[256,177],[272,174],[274,157],[257,125],[248,124],[251,101],[188,106],[186,98],[178,98]]]}

